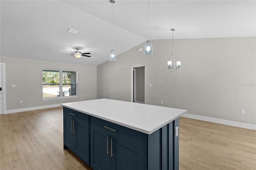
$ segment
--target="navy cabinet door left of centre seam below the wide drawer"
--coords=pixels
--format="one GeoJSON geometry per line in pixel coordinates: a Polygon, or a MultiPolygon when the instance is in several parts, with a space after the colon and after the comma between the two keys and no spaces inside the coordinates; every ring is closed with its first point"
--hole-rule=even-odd
{"type": "Polygon", "coordinates": [[[91,124],[90,132],[90,166],[94,170],[111,170],[110,136],[108,136],[107,130],[91,124]]]}

